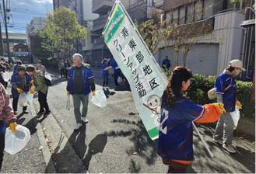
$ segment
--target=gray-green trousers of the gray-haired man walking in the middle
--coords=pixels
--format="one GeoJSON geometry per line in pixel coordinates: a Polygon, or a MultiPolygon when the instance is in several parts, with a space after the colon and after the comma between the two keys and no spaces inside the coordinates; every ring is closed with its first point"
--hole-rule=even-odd
{"type": "Polygon", "coordinates": [[[89,103],[89,94],[73,94],[73,104],[76,124],[81,124],[81,117],[86,117],[89,103]],[[82,102],[82,114],[80,112],[80,106],[82,102]]]}

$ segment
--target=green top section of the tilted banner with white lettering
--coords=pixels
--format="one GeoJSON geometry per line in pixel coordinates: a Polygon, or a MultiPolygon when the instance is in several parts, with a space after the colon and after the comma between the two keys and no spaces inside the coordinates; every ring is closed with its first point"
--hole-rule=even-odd
{"type": "Polygon", "coordinates": [[[114,9],[114,15],[109,20],[107,28],[104,32],[103,37],[104,37],[106,44],[108,44],[109,41],[112,39],[112,37],[114,37],[114,34],[117,32],[117,30],[121,26],[121,23],[124,21],[124,17],[125,17],[125,14],[124,14],[123,10],[121,9],[120,5],[118,4],[117,7],[114,9]],[[113,19],[115,19],[115,20],[112,21],[113,19]]]}

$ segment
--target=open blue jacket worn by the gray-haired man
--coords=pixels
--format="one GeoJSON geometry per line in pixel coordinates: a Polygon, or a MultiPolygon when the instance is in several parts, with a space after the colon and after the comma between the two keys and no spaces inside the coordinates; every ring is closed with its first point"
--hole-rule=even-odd
{"type": "MultiPolygon", "coordinates": [[[[73,95],[74,93],[74,75],[75,75],[75,66],[70,68],[68,71],[68,78],[70,78],[70,85],[68,92],[69,94],[73,95]]],[[[93,78],[93,72],[87,67],[84,66],[82,69],[82,77],[83,77],[83,94],[87,95],[89,92],[91,92],[91,89],[89,87],[89,78],[93,78]]]]}

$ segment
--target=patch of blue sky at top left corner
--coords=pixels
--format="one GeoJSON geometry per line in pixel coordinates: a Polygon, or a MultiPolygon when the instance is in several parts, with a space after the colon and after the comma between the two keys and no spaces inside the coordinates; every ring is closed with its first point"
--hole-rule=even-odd
{"type": "MultiPolygon", "coordinates": [[[[7,8],[10,9],[8,16],[9,33],[26,33],[26,25],[33,17],[46,17],[46,12],[52,12],[52,0],[5,0],[7,8]]],[[[2,1],[1,10],[2,10],[2,1]]],[[[6,8],[6,7],[5,7],[6,8]]],[[[1,11],[3,12],[3,10],[1,11]]],[[[1,16],[2,32],[5,32],[3,14],[1,16]]]]}

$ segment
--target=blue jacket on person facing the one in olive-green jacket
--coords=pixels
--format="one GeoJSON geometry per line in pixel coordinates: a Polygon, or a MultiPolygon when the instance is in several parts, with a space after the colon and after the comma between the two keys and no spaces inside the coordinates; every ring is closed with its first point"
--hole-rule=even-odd
{"type": "MultiPolygon", "coordinates": [[[[20,89],[20,80],[19,73],[16,72],[12,75],[11,84],[18,85],[18,88],[20,89]]],[[[31,75],[29,73],[25,73],[25,89],[23,89],[24,92],[29,92],[30,90],[30,82],[33,81],[31,78],[31,75]]],[[[12,96],[13,97],[19,97],[19,92],[12,87],[12,96]]]]}

